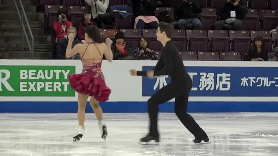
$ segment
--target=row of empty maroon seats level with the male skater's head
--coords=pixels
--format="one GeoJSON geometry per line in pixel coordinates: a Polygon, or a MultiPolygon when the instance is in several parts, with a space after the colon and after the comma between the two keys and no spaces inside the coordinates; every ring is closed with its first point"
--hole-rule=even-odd
{"type": "MultiPolygon", "coordinates": [[[[133,47],[138,46],[139,38],[144,37],[149,41],[149,47],[161,51],[161,43],[157,41],[154,29],[120,29],[125,39],[133,47]]],[[[265,47],[272,51],[272,44],[278,46],[277,32],[245,31],[245,30],[178,30],[173,32],[172,41],[180,51],[235,51],[247,52],[251,42],[256,36],[264,38],[265,47]]]]}

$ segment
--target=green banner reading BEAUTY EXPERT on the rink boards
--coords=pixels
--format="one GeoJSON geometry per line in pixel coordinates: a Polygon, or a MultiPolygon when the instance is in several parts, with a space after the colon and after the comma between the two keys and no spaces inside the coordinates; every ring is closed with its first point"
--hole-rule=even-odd
{"type": "Polygon", "coordinates": [[[74,97],[75,66],[0,66],[0,97],[74,97]]]}

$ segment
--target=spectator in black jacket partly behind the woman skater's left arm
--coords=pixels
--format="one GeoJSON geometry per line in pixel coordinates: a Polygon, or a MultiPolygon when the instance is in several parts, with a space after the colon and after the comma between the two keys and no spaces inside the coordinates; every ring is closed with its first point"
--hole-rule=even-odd
{"type": "MultiPolygon", "coordinates": [[[[75,38],[72,42],[72,48],[79,44],[82,43],[77,37],[77,30],[75,27],[71,26],[67,29],[67,34],[71,34],[73,33],[75,38]]],[[[58,59],[66,59],[66,49],[67,49],[67,45],[68,45],[68,38],[62,40],[56,47],[56,51],[57,51],[57,58],[58,59]]],[[[77,54],[75,56],[72,56],[71,59],[81,59],[80,55],[77,54]]]]}

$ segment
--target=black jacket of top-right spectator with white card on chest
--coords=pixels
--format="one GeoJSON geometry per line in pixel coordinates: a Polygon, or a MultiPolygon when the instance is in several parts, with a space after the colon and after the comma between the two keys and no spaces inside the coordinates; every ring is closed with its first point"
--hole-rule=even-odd
{"type": "Polygon", "coordinates": [[[234,6],[231,2],[226,2],[221,10],[221,19],[225,20],[227,18],[231,18],[231,11],[236,11],[236,19],[241,20],[248,12],[245,4],[242,1],[239,1],[237,6],[234,6]]]}

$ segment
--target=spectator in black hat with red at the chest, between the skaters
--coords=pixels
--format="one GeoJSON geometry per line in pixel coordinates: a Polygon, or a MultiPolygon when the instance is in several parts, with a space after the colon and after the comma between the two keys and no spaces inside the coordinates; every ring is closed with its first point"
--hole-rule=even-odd
{"type": "Polygon", "coordinates": [[[113,59],[135,59],[132,46],[124,42],[124,34],[122,32],[116,34],[111,50],[113,52],[113,59]]]}

